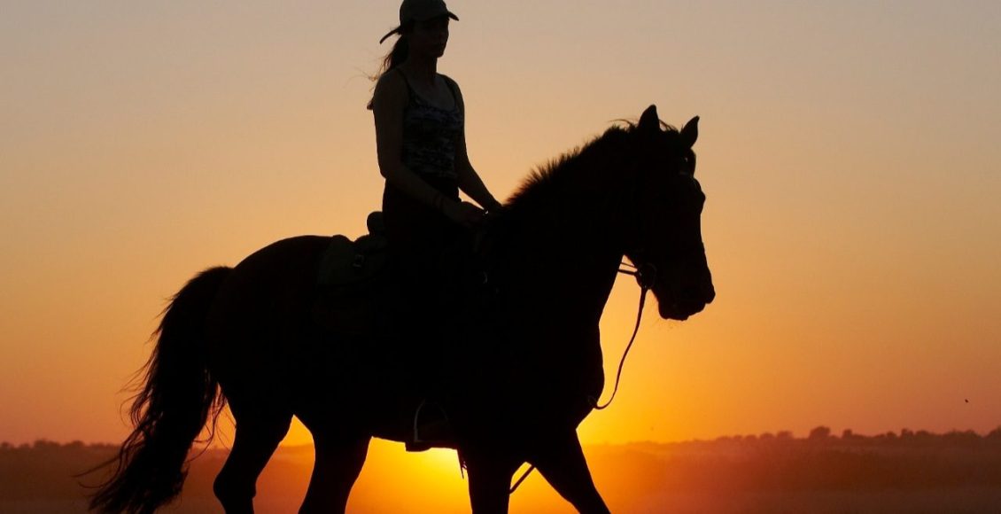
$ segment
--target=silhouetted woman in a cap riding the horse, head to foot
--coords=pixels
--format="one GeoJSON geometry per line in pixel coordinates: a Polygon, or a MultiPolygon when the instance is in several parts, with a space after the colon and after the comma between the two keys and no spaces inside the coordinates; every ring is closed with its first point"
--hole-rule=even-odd
{"type": "MultiPolygon", "coordinates": [[[[449,20],[458,17],[442,0],[403,0],[399,26],[379,41],[399,36],[383,59],[368,105],[385,177],[382,212],[390,259],[400,272],[418,363],[434,360],[422,353],[441,347],[428,339],[442,337],[449,314],[442,311],[450,310],[444,297],[452,289],[445,283],[455,271],[442,265],[443,251],[467,238],[486,211],[500,207],[469,163],[458,84],[437,72],[449,20]],[[459,190],[484,208],[460,200],[459,190]]],[[[423,378],[427,383],[418,387],[435,397],[436,378],[423,378]]]]}

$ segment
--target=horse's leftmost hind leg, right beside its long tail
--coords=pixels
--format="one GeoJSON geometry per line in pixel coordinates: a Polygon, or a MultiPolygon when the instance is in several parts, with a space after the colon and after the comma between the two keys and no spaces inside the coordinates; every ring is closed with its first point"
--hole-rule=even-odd
{"type": "Polygon", "coordinates": [[[233,448],[215,477],[212,491],[226,514],[252,513],[257,477],[288,433],[292,415],[236,411],[233,415],[236,418],[233,448]]]}

